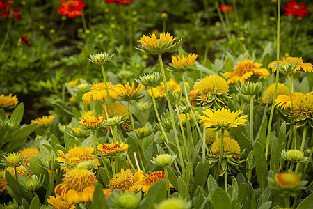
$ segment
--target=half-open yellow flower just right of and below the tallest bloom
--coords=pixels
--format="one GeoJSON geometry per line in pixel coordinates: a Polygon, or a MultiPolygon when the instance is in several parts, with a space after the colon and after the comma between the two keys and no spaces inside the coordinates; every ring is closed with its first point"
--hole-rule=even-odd
{"type": "Polygon", "coordinates": [[[168,68],[168,70],[174,72],[193,71],[196,69],[194,62],[197,57],[198,55],[193,53],[188,54],[188,56],[172,56],[172,63],[170,63],[170,68],[168,68]]]}

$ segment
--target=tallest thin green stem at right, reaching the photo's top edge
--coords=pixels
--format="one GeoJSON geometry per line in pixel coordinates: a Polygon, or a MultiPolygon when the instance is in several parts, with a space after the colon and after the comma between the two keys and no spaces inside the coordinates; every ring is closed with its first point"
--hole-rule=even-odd
{"type": "Polygon", "coordinates": [[[276,40],[276,47],[277,47],[277,70],[276,70],[276,80],[275,80],[275,91],[273,95],[273,102],[272,102],[272,108],[271,108],[271,114],[270,114],[270,119],[268,121],[268,130],[267,130],[267,139],[266,139],[266,148],[265,148],[265,159],[267,159],[267,154],[268,154],[268,147],[269,147],[269,138],[271,135],[271,125],[273,121],[273,114],[274,114],[274,109],[275,109],[275,100],[276,100],[276,95],[277,95],[277,88],[278,88],[278,79],[280,75],[280,1],[278,0],[278,8],[277,8],[277,40],[276,40]]]}

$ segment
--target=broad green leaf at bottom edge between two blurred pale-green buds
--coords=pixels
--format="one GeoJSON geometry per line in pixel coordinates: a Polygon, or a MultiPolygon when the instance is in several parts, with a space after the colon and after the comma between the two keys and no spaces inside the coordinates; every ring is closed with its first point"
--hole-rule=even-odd
{"type": "Polygon", "coordinates": [[[150,209],[154,208],[156,203],[159,203],[166,199],[166,180],[160,180],[150,187],[149,191],[141,201],[138,209],[150,209]]]}

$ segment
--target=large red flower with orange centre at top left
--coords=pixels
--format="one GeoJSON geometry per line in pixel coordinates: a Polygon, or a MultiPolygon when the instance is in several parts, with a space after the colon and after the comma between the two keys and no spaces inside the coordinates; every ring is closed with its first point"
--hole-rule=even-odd
{"type": "Polygon", "coordinates": [[[86,3],[83,3],[82,0],[69,0],[61,1],[61,6],[61,8],[58,8],[58,13],[60,13],[61,15],[67,15],[67,17],[72,18],[83,15],[81,9],[86,6],[86,3]]]}

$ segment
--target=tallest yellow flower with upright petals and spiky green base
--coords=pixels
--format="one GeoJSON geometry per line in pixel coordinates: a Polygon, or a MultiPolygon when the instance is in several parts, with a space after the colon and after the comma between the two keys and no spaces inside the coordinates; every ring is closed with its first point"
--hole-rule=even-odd
{"type": "Polygon", "coordinates": [[[182,39],[174,43],[176,38],[174,38],[170,33],[161,33],[160,38],[157,39],[157,36],[152,33],[141,37],[138,42],[141,43],[141,50],[147,54],[162,54],[164,52],[173,52],[175,51],[182,42],[182,39]]]}

